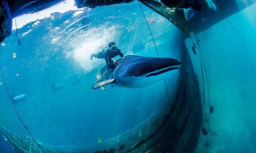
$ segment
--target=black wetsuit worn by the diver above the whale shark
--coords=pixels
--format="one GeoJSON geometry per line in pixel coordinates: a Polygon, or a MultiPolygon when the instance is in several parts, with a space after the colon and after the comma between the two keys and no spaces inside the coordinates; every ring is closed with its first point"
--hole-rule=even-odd
{"type": "Polygon", "coordinates": [[[114,68],[114,61],[111,58],[116,57],[117,55],[119,55],[120,57],[124,57],[124,54],[122,53],[122,51],[120,49],[117,49],[116,51],[110,51],[109,49],[106,51],[100,51],[98,53],[95,54],[96,58],[105,58],[106,63],[108,65],[109,69],[114,68]]]}

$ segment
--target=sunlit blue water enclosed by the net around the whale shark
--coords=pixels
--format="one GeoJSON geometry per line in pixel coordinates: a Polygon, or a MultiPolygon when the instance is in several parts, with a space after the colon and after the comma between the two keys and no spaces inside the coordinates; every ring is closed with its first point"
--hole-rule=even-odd
{"type": "MultiPolygon", "coordinates": [[[[146,14],[152,13],[144,9],[146,14]]],[[[90,61],[90,54],[102,50],[107,42],[115,41],[124,55],[157,57],[138,4],[99,7],[89,13],[84,10],[78,16],[73,16],[74,13],[53,13],[51,17],[28,23],[18,29],[20,46],[12,35],[1,47],[6,54],[1,66],[10,95],[26,94],[26,102],[15,106],[35,139],[49,145],[91,145],[98,144],[98,137],[102,141],[112,139],[145,121],[167,96],[163,80],[140,89],[91,88],[105,60],[90,61]],[[143,43],[146,49],[133,53],[133,44],[137,43],[143,43]],[[76,77],[81,82],[72,85],[71,80],[76,77]],[[64,88],[52,91],[52,83],[63,83],[64,88]]],[[[178,32],[177,28],[157,14],[153,17],[157,23],[150,26],[160,57],[179,59],[179,46],[170,43],[179,40],[168,36],[165,30],[178,32]]],[[[175,79],[175,76],[167,79],[170,91],[175,79]]],[[[16,120],[3,84],[1,90],[5,108],[2,121],[12,118],[2,126],[26,134],[16,120]]]]}

